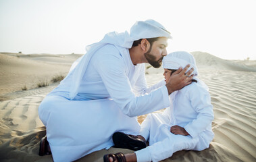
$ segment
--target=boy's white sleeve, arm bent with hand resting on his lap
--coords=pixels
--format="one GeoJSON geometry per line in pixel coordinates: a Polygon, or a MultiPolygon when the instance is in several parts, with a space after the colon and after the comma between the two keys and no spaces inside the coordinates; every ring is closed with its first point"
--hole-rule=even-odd
{"type": "Polygon", "coordinates": [[[213,106],[209,92],[201,86],[196,86],[195,89],[190,90],[189,96],[191,105],[198,114],[196,119],[184,126],[184,129],[195,138],[211,124],[214,117],[213,106]]]}

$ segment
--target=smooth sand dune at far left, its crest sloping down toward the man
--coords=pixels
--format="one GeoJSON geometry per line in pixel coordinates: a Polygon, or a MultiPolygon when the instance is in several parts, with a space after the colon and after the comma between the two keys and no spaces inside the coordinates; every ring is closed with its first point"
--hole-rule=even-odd
{"type": "Polygon", "coordinates": [[[36,84],[49,81],[56,74],[66,76],[70,70],[69,64],[49,63],[35,61],[21,57],[0,54],[0,95],[22,90],[36,88],[36,84]]]}

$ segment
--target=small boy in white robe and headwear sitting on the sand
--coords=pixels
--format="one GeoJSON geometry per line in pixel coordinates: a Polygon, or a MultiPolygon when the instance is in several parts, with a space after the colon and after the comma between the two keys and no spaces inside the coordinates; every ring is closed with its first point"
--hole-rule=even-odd
{"type": "Polygon", "coordinates": [[[105,161],[161,161],[172,157],[176,151],[202,151],[209,147],[214,136],[211,130],[213,107],[208,87],[197,78],[195,58],[185,51],[170,53],[163,57],[163,76],[168,82],[175,70],[188,63],[190,68],[194,68],[193,82],[170,94],[170,107],[163,113],[147,115],[138,136],[122,132],[113,134],[113,142],[117,147],[136,152],[105,155],[105,161]],[[147,140],[149,146],[146,147],[147,140]]]}

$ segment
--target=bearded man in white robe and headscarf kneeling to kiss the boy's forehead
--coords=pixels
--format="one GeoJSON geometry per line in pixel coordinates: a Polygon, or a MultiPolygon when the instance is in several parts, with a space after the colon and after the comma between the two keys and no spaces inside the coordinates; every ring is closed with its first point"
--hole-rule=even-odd
{"type": "Polygon", "coordinates": [[[86,47],[86,54],[39,107],[47,128],[41,155],[47,142],[54,161],[74,161],[109,148],[114,132],[138,134],[136,116],[168,107],[168,95],[190,84],[193,72],[184,75],[188,65],[165,86],[147,88],[144,63],[159,68],[168,38],[170,32],[161,24],[146,20],[136,22],[130,33],[110,32],[86,47]]]}

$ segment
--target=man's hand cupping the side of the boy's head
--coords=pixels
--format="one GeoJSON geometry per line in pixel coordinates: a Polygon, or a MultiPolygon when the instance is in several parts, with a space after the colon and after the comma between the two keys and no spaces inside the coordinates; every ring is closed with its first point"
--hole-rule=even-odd
{"type": "Polygon", "coordinates": [[[191,83],[191,80],[193,79],[193,75],[190,76],[190,74],[193,73],[194,69],[191,68],[187,73],[186,70],[190,65],[186,65],[186,67],[182,70],[182,68],[179,68],[172,76],[170,77],[170,80],[168,83],[166,83],[166,87],[168,89],[168,94],[171,94],[172,92],[176,90],[180,90],[184,86],[191,83]],[[186,74],[185,74],[186,73],[186,74]]]}

